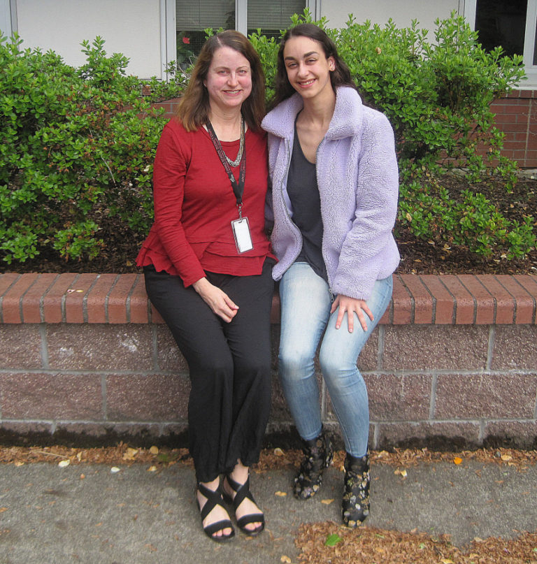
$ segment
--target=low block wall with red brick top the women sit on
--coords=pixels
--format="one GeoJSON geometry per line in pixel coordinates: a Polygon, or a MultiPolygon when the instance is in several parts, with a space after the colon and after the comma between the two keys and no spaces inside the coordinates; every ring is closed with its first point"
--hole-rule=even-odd
{"type": "MultiPolygon", "coordinates": [[[[536,303],[535,276],[394,276],[358,361],[371,446],[536,448],[536,303]]],[[[267,444],[285,446],[278,311],[267,444]]],[[[142,275],[0,275],[0,442],[186,444],[188,391],[142,275]]],[[[322,410],[338,433],[324,387],[322,410]]]]}

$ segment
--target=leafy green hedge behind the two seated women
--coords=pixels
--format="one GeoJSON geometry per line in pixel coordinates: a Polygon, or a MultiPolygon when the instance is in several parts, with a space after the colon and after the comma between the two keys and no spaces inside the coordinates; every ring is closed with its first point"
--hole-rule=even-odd
{"type": "MultiPolygon", "coordinates": [[[[307,12],[292,23],[299,19],[311,21],[307,12]]],[[[534,219],[503,217],[471,185],[485,173],[503,175],[506,190],[513,185],[516,167],[501,157],[490,103],[522,80],[522,62],[484,52],[461,17],[437,25],[431,43],[416,23],[397,29],[351,17],[327,32],[365,101],[394,125],[397,229],[484,256],[522,256],[536,245],[534,219]],[[478,143],[489,146],[494,167],[476,153],[478,143]],[[463,194],[437,180],[453,166],[468,171],[463,194]]],[[[259,33],[251,40],[271,85],[278,44],[259,33]]],[[[85,41],[83,52],[87,63],[72,68],[53,52],[22,50],[18,39],[0,36],[0,256],[8,263],[48,246],[66,259],[91,259],[104,245],[103,217],[138,233],[152,221],[152,161],[166,121],[152,103],[178,96],[184,75],[168,84],[128,76],[127,59],[108,57],[101,38],[85,41]]]]}

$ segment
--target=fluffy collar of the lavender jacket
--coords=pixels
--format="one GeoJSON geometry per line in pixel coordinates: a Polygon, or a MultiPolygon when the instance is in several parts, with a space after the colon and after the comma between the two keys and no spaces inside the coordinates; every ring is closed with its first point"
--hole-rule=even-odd
{"type": "MultiPolygon", "coordinates": [[[[302,108],[303,101],[300,94],[296,92],[264,117],[263,129],[278,137],[292,138],[294,120],[302,108]]],[[[338,87],[336,89],[336,108],[334,108],[334,115],[324,137],[335,140],[355,135],[361,129],[363,112],[364,106],[362,106],[358,92],[348,86],[338,87]]]]}

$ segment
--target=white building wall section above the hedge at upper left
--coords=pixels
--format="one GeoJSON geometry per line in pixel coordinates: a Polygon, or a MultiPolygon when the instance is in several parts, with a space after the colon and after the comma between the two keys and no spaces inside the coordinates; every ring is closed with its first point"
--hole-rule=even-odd
{"type": "Polygon", "coordinates": [[[22,48],[52,49],[81,66],[80,43],[101,36],[108,55],[129,57],[127,73],[161,76],[160,0],[17,0],[16,6],[22,48]]]}

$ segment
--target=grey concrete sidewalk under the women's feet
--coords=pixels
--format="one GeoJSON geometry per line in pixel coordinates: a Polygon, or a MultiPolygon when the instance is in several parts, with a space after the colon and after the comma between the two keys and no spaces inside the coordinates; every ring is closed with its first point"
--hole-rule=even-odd
{"type": "MultiPolygon", "coordinates": [[[[537,528],[537,465],[520,471],[475,461],[422,463],[407,468],[406,479],[394,470],[372,466],[366,525],[447,533],[459,546],[537,528]]],[[[329,468],[320,493],[308,501],[293,498],[293,475],[254,473],[266,530],[255,539],[237,532],[232,542],[217,544],[201,530],[190,468],[148,472],[136,463],[112,473],[107,465],[0,465],[0,563],[268,564],[283,555],[297,562],[300,523],[340,523],[343,474],[329,468]],[[327,499],[334,501],[322,503],[327,499]]]]}

